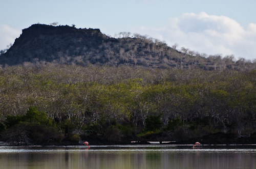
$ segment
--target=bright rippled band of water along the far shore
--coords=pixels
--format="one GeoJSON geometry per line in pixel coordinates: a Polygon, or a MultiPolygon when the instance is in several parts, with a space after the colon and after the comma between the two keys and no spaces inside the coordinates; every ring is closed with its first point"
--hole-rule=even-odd
{"type": "Polygon", "coordinates": [[[193,149],[192,145],[114,145],[114,146],[91,146],[90,149],[84,146],[22,146],[22,147],[0,147],[0,153],[51,153],[51,152],[179,152],[179,153],[256,153],[256,145],[233,145],[233,146],[200,146],[198,149],[193,149]]]}

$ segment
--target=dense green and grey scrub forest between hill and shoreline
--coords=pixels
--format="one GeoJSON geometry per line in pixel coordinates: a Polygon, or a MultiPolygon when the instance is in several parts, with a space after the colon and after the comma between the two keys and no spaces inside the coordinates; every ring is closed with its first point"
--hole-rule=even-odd
{"type": "Polygon", "coordinates": [[[256,71],[47,64],[0,70],[0,139],[187,140],[255,132],[256,71]]]}

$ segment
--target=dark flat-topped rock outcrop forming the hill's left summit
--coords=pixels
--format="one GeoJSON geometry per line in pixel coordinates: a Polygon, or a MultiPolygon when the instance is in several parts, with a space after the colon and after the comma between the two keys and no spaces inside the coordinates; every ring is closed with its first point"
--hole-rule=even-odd
{"type": "Polygon", "coordinates": [[[10,49],[1,55],[0,64],[17,65],[24,62],[68,62],[70,56],[81,55],[81,50],[97,48],[103,39],[99,29],[76,29],[71,26],[34,24],[23,30],[10,49]]]}

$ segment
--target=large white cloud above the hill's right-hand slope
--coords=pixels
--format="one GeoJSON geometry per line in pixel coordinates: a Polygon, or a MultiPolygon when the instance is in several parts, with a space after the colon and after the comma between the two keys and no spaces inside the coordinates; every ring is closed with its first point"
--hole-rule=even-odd
{"type": "Polygon", "coordinates": [[[256,59],[256,24],[246,29],[226,16],[183,13],[169,19],[168,27],[141,27],[133,30],[164,40],[169,46],[178,43],[206,54],[234,54],[238,58],[256,59]]]}

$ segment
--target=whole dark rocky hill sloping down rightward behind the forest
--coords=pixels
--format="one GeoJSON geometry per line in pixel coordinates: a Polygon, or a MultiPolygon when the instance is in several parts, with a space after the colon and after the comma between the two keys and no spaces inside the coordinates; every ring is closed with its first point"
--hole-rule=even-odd
{"type": "MultiPolygon", "coordinates": [[[[121,35],[121,34],[120,34],[121,35]]],[[[99,29],[76,29],[68,25],[33,24],[0,56],[0,65],[45,65],[47,63],[87,66],[146,66],[206,70],[251,70],[255,64],[234,61],[233,56],[205,57],[195,51],[181,51],[164,42],[135,34],[108,37],[99,29]]]]}

